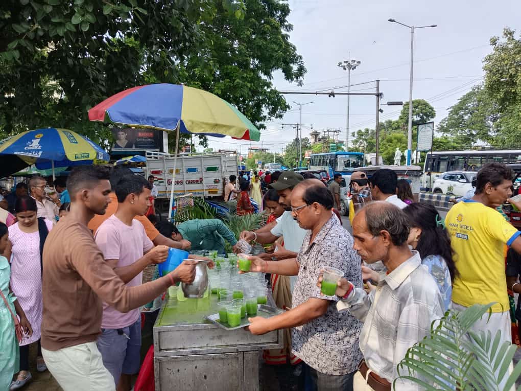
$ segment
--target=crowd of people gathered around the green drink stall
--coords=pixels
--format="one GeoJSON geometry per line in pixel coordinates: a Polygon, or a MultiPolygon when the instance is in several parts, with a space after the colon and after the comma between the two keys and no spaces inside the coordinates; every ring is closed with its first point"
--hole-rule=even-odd
{"type": "MultiPolygon", "coordinates": [[[[264,352],[268,364],[300,369],[279,379],[284,389],[379,391],[394,382],[396,390],[420,390],[397,372],[407,349],[445,311],[476,303],[495,302],[473,329],[501,330],[511,340],[507,288],[521,293],[521,238],[496,210],[512,196],[505,165],[483,166],[474,195],[445,218],[415,202],[392,170],[371,178],[355,172],[352,234],[335,213],[342,176],[329,187],[291,170],[237,179],[229,178],[225,200],[237,199],[237,213],[247,214],[253,199],[269,214],[240,239],[265,245],[247,255],[250,272],[267,274],[286,310],[253,317],[248,327],[255,335],[284,329],[284,347],[264,352]],[[325,267],[342,274],[328,296],[321,293],[325,267]]],[[[190,255],[151,282],[143,283],[143,270],[164,262],[169,248],[224,253],[227,241],[238,252],[238,240],[220,219],[153,224],[146,215],[154,185],[126,167],[77,167],[66,182],[54,181],[54,193],[41,177],[28,185],[5,197],[8,214],[0,214],[0,389],[31,380],[29,346],[36,344],[36,370],[48,369],[65,391],[128,391],[140,366],[139,308],[192,282],[202,257],[190,255]]]]}

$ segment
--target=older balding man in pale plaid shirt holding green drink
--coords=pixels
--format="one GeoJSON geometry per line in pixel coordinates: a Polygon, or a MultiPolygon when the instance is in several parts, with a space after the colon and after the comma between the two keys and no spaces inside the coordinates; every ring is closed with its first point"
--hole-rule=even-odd
{"type": "MultiPolygon", "coordinates": [[[[418,252],[407,246],[408,234],[405,213],[388,202],[365,206],[353,221],[353,248],[365,262],[381,260],[386,266],[369,295],[344,278],[336,292],[341,297],[339,312],[349,311],[364,322],[360,333],[364,361],[355,375],[356,391],[390,390],[398,377],[396,365],[407,349],[428,335],[431,323],[443,316],[438,286],[427,268],[421,266],[418,252]]],[[[423,388],[399,378],[395,389],[423,388]]]]}

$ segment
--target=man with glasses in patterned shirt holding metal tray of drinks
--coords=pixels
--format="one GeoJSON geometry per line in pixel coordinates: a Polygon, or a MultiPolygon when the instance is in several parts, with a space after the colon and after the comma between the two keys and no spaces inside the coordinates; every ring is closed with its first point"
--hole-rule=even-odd
{"type": "Polygon", "coordinates": [[[333,197],[317,179],[297,185],[291,194],[291,210],[299,225],[308,229],[296,259],[264,261],[251,256],[253,272],[298,275],[292,309],[264,319],[254,317],[252,334],[292,327],[292,352],[309,367],[319,391],[353,390],[353,376],[362,360],[358,335],[362,324],[351,314],[336,310],[338,296],[324,296],[316,286],[320,269],[340,269],[362,287],[361,259],[353,250],[353,238],[331,215],[333,197]]]}

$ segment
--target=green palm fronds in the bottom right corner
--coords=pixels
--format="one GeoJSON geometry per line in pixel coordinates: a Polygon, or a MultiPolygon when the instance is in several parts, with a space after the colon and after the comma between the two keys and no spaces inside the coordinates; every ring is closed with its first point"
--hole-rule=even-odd
{"type": "Polygon", "coordinates": [[[501,331],[475,333],[472,326],[489,312],[495,303],[475,304],[465,311],[450,310],[432,322],[431,333],[409,350],[398,364],[400,378],[426,390],[502,391],[515,384],[521,363],[508,375],[516,346],[501,343],[501,331]]]}

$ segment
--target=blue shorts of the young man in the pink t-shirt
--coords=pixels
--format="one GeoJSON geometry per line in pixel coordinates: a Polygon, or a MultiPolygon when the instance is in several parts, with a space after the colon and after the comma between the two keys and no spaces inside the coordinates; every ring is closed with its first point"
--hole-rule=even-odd
{"type": "Polygon", "coordinates": [[[133,375],[139,372],[141,360],[141,318],[128,327],[102,328],[97,340],[103,365],[114,377],[117,385],[121,373],[133,375]]]}

